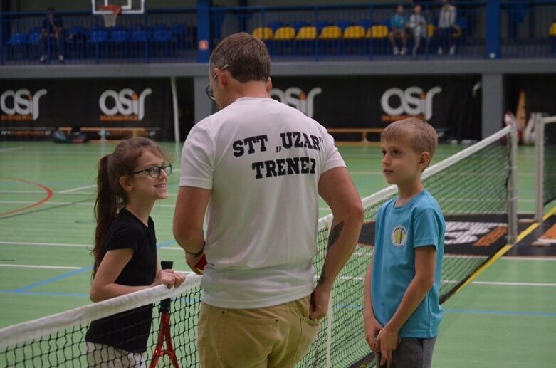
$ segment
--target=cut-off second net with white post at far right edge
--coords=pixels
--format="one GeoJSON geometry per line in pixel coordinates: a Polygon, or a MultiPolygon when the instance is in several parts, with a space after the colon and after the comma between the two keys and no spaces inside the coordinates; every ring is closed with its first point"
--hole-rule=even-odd
{"type": "Polygon", "coordinates": [[[537,120],[535,150],[535,220],[542,221],[545,205],[556,199],[556,116],[537,120]]]}

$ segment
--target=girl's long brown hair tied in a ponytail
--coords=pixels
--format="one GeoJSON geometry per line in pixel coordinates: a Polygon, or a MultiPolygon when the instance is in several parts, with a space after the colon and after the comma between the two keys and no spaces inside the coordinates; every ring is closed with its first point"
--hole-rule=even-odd
{"type": "Polygon", "coordinates": [[[105,236],[117,214],[127,204],[127,194],[120,185],[120,177],[131,175],[142,154],[149,150],[167,159],[167,154],[158,144],[147,138],[130,138],[117,144],[111,154],[98,161],[97,199],[95,200],[95,247],[91,253],[95,258],[93,278],[102,258],[105,236]]]}

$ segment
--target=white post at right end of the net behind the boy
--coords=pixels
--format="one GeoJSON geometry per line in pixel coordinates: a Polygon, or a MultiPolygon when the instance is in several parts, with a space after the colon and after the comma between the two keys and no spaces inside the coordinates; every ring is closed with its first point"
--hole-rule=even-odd
{"type": "Polygon", "coordinates": [[[518,237],[518,127],[510,130],[510,176],[508,180],[508,244],[518,237]]]}

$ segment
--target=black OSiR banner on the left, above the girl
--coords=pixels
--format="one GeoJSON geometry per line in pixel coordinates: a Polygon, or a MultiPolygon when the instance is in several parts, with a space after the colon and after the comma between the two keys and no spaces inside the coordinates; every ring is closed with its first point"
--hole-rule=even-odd
{"type": "Polygon", "coordinates": [[[0,131],[4,139],[48,136],[58,127],[145,127],[157,131],[159,139],[171,139],[169,80],[0,81],[0,131]]]}

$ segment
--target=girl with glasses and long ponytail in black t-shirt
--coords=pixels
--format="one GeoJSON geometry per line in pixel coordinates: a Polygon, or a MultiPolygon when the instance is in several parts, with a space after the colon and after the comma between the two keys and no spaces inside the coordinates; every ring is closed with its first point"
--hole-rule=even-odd
{"type": "MultiPolygon", "coordinates": [[[[157,285],[178,287],[182,273],[161,270],[150,217],[154,202],[168,197],[162,149],[147,138],[131,138],[98,162],[95,201],[93,302],[157,285]]],[[[90,367],[145,365],[152,304],[91,322],[85,341],[90,367]]]]}

